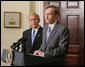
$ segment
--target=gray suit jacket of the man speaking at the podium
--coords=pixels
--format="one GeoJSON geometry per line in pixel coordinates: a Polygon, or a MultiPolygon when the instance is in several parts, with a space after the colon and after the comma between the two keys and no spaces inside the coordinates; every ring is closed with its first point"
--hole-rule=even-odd
{"type": "Polygon", "coordinates": [[[66,26],[57,22],[46,42],[48,25],[43,28],[43,41],[39,50],[44,52],[45,57],[53,57],[65,61],[65,55],[69,46],[69,30],[66,26]]]}

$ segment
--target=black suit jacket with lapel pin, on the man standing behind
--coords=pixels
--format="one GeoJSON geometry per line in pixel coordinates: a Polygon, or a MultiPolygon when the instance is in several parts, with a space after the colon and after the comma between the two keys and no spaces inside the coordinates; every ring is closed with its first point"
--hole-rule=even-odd
{"type": "Polygon", "coordinates": [[[23,38],[26,38],[27,41],[22,44],[22,52],[34,53],[35,50],[39,49],[42,43],[42,27],[39,27],[39,30],[35,36],[33,46],[31,46],[31,32],[32,28],[23,32],[23,38]]]}

